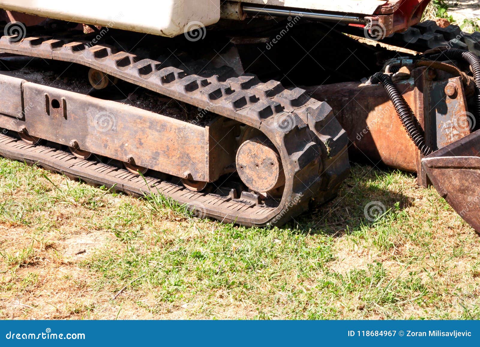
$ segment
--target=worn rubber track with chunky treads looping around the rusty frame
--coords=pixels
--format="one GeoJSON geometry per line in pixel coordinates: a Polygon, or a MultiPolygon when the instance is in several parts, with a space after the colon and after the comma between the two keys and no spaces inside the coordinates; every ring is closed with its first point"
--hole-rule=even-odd
{"type": "Polygon", "coordinates": [[[303,89],[286,89],[276,81],[262,83],[250,74],[222,78],[221,69],[209,70],[209,76],[188,74],[111,46],[89,47],[75,37],[35,35],[15,42],[11,36],[2,36],[0,51],[88,66],[258,129],[279,153],[285,188],[273,207],[252,202],[243,193],[234,197],[191,191],[180,184],[80,159],[53,145],[26,144],[10,136],[11,132],[0,136],[1,156],[129,194],[159,192],[197,211],[195,215],[245,226],[282,225],[307,210],[312,200],[323,203],[334,198],[348,175],[347,134],[332,109],[303,89]],[[287,117],[295,126],[288,132],[279,130],[279,117],[287,117]]]}

